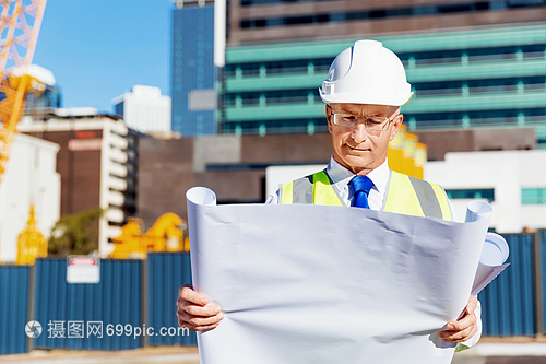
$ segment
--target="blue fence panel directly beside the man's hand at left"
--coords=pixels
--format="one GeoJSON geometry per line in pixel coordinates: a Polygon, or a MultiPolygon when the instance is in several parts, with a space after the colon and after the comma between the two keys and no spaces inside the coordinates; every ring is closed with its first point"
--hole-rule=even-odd
{"type": "MultiPolygon", "coordinates": [[[[176,300],[180,285],[191,283],[189,253],[154,253],[149,261],[149,320],[147,326],[156,331],[163,328],[178,328],[176,300]]],[[[177,336],[147,337],[150,345],[197,345],[194,332],[177,330],[177,336]]]]}

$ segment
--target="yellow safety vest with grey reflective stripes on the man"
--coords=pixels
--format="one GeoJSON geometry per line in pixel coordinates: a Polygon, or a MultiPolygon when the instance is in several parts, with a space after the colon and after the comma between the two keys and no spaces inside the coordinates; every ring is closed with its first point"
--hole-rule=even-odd
{"type": "MultiPolygon", "coordinates": [[[[344,206],[324,171],[283,184],[281,203],[344,206]]],[[[436,184],[391,171],[389,188],[381,211],[452,221],[451,208],[443,189],[436,184]]]]}

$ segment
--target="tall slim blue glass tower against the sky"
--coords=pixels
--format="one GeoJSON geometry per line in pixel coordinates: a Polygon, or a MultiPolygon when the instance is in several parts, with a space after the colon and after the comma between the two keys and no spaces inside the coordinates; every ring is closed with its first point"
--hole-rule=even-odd
{"type": "Polygon", "coordinates": [[[182,137],[216,133],[214,1],[178,0],[173,9],[171,129],[182,137]]]}

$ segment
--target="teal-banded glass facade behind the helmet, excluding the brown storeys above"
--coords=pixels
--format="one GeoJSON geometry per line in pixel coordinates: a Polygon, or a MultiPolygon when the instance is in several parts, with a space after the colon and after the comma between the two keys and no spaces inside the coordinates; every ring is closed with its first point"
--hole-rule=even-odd
{"type": "MultiPolygon", "coordinates": [[[[221,131],[327,131],[318,89],[352,37],[226,49],[221,131]]],[[[536,130],[546,148],[546,25],[381,35],[405,64],[414,98],[402,107],[410,130],[489,127],[536,130]]]]}

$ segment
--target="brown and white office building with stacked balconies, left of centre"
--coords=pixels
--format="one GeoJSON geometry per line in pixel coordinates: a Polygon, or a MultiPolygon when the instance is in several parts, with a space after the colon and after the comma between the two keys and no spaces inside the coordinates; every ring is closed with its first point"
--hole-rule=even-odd
{"type": "Polygon", "coordinates": [[[61,215],[100,207],[98,253],[114,249],[109,239],[136,213],[139,133],[117,116],[93,109],[57,109],[43,120],[20,126],[20,132],[59,144],[61,215]]]}

